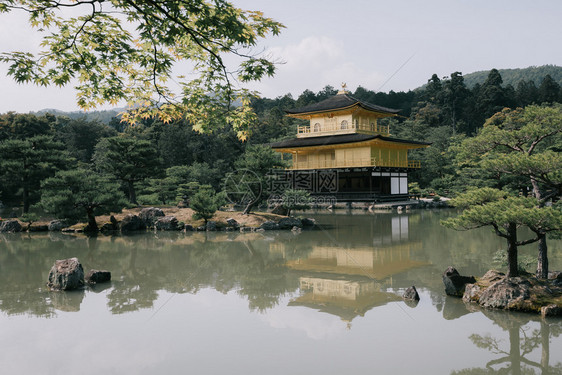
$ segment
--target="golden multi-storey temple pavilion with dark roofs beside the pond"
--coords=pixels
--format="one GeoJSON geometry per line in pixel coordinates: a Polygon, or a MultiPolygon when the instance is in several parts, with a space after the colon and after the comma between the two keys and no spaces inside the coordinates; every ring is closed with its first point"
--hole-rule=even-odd
{"type": "Polygon", "coordinates": [[[394,138],[379,124],[399,110],[358,100],[345,90],[287,116],[308,120],[293,139],[271,147],[290,155],[286,179],[294,189],[331,195],[339,201],[385,201],[408,197],[408,172],[420,162],[408,150],[429,143],[394,138]]]}

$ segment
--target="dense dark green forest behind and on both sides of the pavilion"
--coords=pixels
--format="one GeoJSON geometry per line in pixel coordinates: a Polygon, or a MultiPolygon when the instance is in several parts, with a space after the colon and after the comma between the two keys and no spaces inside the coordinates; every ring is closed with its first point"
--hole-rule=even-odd
{"type": "MultiPolygon", "coordinates": [[[[460,72],[444,78],[434,74],[415,91],[383,93],[358,87],[351,94],[369,103],[400,109],[398,117],[387,119],[392,135],[432,143],[431,147],[414,152],[412,158],[421,160],[423,167],[412,174],[410,182],[426,192],[454,195],[469,185],[486,185],[480,181],[482,176],[458,167],[454,152],[463,139],[477,134],[486,119],[504,108],[562,103],[559,77],[554,79],[546,74],[540,81],[536,81],[536,75],[531,75],[532,79],[520,77],[515,85],[505,84],[502,74],[493,69],[482,83],[469,87],[460,72]]],[[[56,206],[53,200],[62,193],[46,199],[49,194],[42,194],[42,189],[55,189],[56,184],[50,180],[55,174],[76,170],[82,174],[67,173],[65,184],[85,180],[79,176],[98,176],[100,180],[90,183],[98,187],[113,184],[123,199],[109,190],[106,198],[122,202],[123,206],[176,204],[201,185],[220,191],[223,177],[243,160],[251,160],[247,153],[255,152],[254,145],[296,134],[299,120],[286,117],[286,109],[321,101],[336,92],[326,86],[316,93],[306,90],[297,98],[288,94],[255,99],[252,105],[257,121],[251,124],[250,136],[245,141],[239,140],[228,125],[216,126],[210,133],[198,133],[187,121],[164,124],[144,120],[128,126],[118,117],[112,117],[107,124],[102,122],[103,113],[93,114],[94,119],[51,113],[2,114],[0,202],[4,206],[23,206],[24,212],[33,211],[33,207],[56,206]],[[41,201],[42,195],[46,202],[41,201]]],[[[559,150],[562,142],[555,138],[548,147],[559,150]]]]}

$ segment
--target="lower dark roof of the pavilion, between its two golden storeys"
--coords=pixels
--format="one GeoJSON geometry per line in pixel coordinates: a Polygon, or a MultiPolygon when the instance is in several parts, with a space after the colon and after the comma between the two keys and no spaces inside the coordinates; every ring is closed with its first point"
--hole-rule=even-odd
{"type": "Polygon", "coordinates": [[[323,137],[307,137],[307,138],[293,138],[286,141],[274,142],[270,146],[272,148],[293,148],[293,147],[311,147],[311,146],[328,146],[339,145],[346,143],[357,143],[370,141],[372,139],[380,139],[387,142],[408,143],[413,145],[429,146],[431,143],[408,141],[405,139],[398,139],[392,137],[384,137],[382,135],[369,135],[369,134],[343,134],[343,135],[327,135],[323,137]]]}

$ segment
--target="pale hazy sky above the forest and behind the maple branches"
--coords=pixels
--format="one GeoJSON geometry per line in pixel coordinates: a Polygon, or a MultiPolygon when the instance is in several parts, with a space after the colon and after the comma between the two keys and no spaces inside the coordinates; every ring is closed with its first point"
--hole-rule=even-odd
{"type": "MultiPolygon", "coordinates": [[[[285,25],[255,51],[280,64],[249,87],[275,98],[326,85],[407,91],[432,74],[562,66],[560,0],[233,0],[285,25]]],[[[23,14],[0,14],[0,51],[39,43],[23,14]]],[[[78,110],[72,87],[16,84],[0,64],[0,113],[78,110]]],[[[101,109],[107,109],[108,106],[101,109]]]]}

